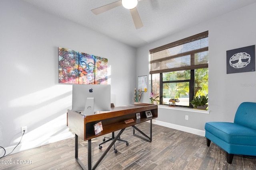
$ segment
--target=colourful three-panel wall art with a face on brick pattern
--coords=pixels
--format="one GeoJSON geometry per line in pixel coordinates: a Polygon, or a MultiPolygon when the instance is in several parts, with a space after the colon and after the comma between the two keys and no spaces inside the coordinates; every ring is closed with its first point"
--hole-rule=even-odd
{"type": "Polygon", "coordinates": [[[108,84],[108,59],[59,47],[59,83],[108,84]]]}

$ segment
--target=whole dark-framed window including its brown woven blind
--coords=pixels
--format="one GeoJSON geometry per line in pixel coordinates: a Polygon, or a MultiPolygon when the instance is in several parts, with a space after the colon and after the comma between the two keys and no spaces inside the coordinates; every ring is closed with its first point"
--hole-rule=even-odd
{"type": "Polygon", "coordinates": [[[192,107],[194,96],[208,96],[208,31],[150,50],[150,74],[160,104],[192,107]]]}

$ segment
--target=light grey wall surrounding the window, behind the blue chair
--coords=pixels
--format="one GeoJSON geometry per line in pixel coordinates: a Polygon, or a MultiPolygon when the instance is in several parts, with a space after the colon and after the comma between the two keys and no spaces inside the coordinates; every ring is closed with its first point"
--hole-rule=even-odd
{"type": "MultiPolygon", "coordinates": [[[[150,49],[209,31],[209,110],[210,114],[158,109],[158,121],[204,131],[208,121],[234,121],[241,102],[256,102],[256,72],[226,74],[226,51],[256,44],[256,3],[137,49],[137,76],[148,75],[150,49]],[[242,86],[247,84],[248,86],[242,86]],[[185,120],[185,115],[189,120],[185,120]]],[[[142,102],[149,102],[149,92],[142,102]]]]}

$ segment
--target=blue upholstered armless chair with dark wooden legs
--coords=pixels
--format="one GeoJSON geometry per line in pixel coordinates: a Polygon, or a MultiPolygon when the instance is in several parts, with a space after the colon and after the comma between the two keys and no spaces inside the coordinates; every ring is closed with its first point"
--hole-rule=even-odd
{"type": "Polygon", "coordinates": [[[240,104],[234,123],[207,122],[204,129],[207,146],[212,141],[225,150],[229,164],[234,154],[256,156],[256,103],[240,104]]]}

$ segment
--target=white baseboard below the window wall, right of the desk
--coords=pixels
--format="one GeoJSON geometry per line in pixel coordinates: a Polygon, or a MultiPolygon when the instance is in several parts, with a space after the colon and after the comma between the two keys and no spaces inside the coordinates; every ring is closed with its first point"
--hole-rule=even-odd
{"type": "Polygon", "coordinates": [[[169,128],[172,128],[172,129],[177,129],[179,131],[192,133],[192,134],[195,134],[195,135],[200,135],[200,136],[205,135],[205,131],[202,131],[202,130],[199,130],[199,129],[193,129],[191,127],[175,125],[175,124],[172,124],[172,123],[166,123],[164,121],[158,121],[158,120],[152,120],[152,123],[154,123],[156,125],[164,126],[164,127],[169,127],[169,128]]]}

